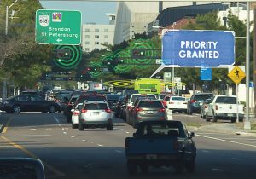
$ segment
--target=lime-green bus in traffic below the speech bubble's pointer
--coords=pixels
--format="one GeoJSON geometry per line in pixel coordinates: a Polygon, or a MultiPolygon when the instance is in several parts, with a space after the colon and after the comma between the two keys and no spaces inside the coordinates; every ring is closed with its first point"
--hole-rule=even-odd
{"type": "Polygon", "coordinates": [[[162,91],[162,83],[160,79],[137,78],[134,81],[134,90],[137,90],[140,94],[159,95],[162,91]]]}

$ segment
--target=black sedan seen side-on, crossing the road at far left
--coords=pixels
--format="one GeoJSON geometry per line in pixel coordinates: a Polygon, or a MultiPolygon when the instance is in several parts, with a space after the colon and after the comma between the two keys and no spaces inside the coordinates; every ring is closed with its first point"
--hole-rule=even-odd
{"type": "Polygon", "coordinates": [[[55,101],[44,100],[38,95],[15,95],[0,102],[0,108],[7,113],[43,112],[55,113],[61,106],[55,101]]]}

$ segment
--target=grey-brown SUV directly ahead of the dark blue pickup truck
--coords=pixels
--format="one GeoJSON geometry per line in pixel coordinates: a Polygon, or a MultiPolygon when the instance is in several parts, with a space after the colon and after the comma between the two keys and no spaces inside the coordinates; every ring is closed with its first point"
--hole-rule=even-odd
{"type": "Polygon", "coordinates": [[[166,109],[160,100],[137,99],[131,110],[130,124],[137,128],[137,124],[147,120],[167,120],[166,109]]]}

